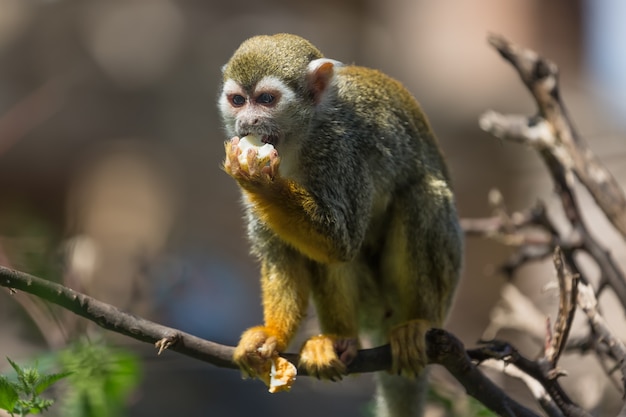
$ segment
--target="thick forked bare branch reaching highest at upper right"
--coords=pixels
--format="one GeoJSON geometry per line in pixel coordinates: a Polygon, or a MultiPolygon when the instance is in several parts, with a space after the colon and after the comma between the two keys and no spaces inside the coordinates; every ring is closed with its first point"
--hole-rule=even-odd
{"type": "MultiPolygon", "coordinates": [[[[557,236],[555,244],[561,246],[575,274],[579,273],[575,252],[581,249],[587,251],[602,273],[599,289],[611,287],[626,309],[626,278],[610,252],[589,232],[576,199],[575,177],[626,238],[626,198],[623,191],[573,129],[560,99],[556,64],[501,36],[490,36],[489,43],[517,70],[537,103],[538,115],[524,118],[490,111],[481,117],[480,126],[499,138],[527,144],[539,152],[550,171],[565,215],[574,228],[574,233],[567,239],[557,236]]],[[[555,231],[552,227],[552,232],[555,231]]],[[[527,259],[532,259],[532,256],[514,259],[512,265],[516,267],[527,259]]]]}

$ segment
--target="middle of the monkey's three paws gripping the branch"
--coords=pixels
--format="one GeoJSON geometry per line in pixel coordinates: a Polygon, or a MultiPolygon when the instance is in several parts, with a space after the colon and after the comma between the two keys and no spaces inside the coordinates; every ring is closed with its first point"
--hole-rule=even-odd
{"type": "Polygon", "coordinates": [[[341,380],[356,357],[358,345],[357,338],[314,336],[300,351],[300,366],[319,379],[341,380]]]}

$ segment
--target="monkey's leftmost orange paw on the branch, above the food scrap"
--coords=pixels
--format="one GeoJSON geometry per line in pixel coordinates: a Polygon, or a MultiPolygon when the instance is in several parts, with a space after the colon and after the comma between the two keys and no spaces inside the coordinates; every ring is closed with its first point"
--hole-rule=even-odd
{"type": "Polygon", "coordinates": [[[272,359],[284,349],[284,342],[275,331],[264,326],[252,327],[241,335],[233,361],[245,377],[269,381],[272,359]]]}

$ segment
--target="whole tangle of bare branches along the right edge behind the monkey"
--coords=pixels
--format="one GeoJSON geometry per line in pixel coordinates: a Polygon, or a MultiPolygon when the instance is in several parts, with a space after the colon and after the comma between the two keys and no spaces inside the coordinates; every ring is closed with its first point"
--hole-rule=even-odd
{"type": "MultiPolygon", "coordinates": [[[[567,235],[560,232],[546,215],[545,210],[534,212],[531,210],[512,215],[502,213],[501,207],[504,205],[501,201],[500,210],[492,218],[463,222],[466,230],[473,235],[513,243],[517,247],[516,253],[502,267],[502,272],[507,277],[517,272],[520,266],[544,258],[554,248],[562,249],[562,254],[555,252],[554,256],[560,287],[559,311],[554,331],[548,323],[543,356],[530,361],[508,344],[499,345],[496,342],[490,344],[484,351],[472,350],[468,353],[473,359],[480,359],[480,355],[483,355],[485,358],[512,363],[521,373],[540,382],[552,401],[544,401],[545,393],[542,390],[537,390],[535,397],[548,414],[555,413],[556,405],[565,416],[587,416],[588,413],[574,404],[559,386],[557,378],[561,371],[557,368],[557,362],[561,353],[572,346],[572,341],[568,341],[568,338],[578,305],[587,314],[592,331],[590,336],[582,341],[583,344],[581,341],[574,341],[577,343],[576,347],[594,349],[600,358],[610,357],[615,360],[621,368],[623,385],[626,388],[624,344],[610,334],[597,312],[595,301],[595,297],[603,289],[610,288],[626,309],[626,279],[610,252],[587,227],[577,200],[576,178],[587,188],[598,207],[623,238],[626,238],[626,198],[613,176],[601,165],[583,138],[575,131],[561,101],[557,66],[534,51],[521,48],[503,37],[490,36],[489,43],[517,70],[535,99],[538,110],[536,115],[530,117],[502,115],[489,111],[480,118],[480,126],[498,138],[531,146],[538,152],[552,177],[571,232],[567,235]],[[529,234],[531,227],[538,227],[543,232],[540,238],[536,237],[536,233],[529,234]],[[580,258],[576,256],[580,251],[586,252],[600,270],[601,278],[595,294],[581,271],[580,258]]],[[[507,294],[512,298],[510,294],[514,292],[508,291],[507,294]]],[[[521,295],[518,298],[525,299],[521,295]]],[[[506,313],[503,317],[492,318],[492,324],[488,328],[491,333],[503,328],[504,320],[507,320],[507,325],[513,322],[522,330],[523,326],[527,325],[523,322],[523,316],[515,314],[521,310],[519,306],[512,306],[510,300],[506,301],[505,307],[509,308],[501,309],[506,313]],[[511,320],[510,316],[515,317],[517,321],[511,320]]],[[[528,320],[536,322],[535,318],[528,320]]],[[[626,405],[620,411],[620,415],[626,416],[626,405]]]]}

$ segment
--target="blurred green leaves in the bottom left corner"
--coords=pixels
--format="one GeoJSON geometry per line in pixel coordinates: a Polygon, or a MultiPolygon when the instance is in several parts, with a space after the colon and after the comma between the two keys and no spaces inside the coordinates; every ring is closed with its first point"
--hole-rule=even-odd
{"type": "Polygon", "coordinates": [[[80,340],[42,356],[32,367],[8,361],[15,375],[0,375],[0,409],[7,410],[11,416],[48,410],[55,400],[40,394],[64,379],[63,388],[55,391],[58,415],[122,417],[141,379],[139,360],[103,341],[80,340]],[[60,372],[50,372],[52,369],[60,369],[60,372]]]}

